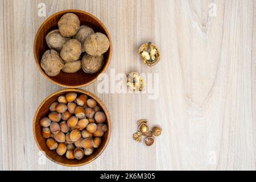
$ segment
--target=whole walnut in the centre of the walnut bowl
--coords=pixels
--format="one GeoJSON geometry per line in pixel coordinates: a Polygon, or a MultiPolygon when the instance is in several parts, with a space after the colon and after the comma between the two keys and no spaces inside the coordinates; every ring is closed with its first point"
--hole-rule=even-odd
{"type": "Polygon", "coordinates": [[[68,40],[60,51],[60,56],[65,63],[77,61],[82,52],[81,43],[76,39],[68,40]]]}

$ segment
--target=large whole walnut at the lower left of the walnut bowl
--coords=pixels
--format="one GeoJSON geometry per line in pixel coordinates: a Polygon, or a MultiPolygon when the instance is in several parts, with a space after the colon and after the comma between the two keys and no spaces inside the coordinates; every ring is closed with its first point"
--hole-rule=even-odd
{"type": "Polygon", "coordinates": [[[46,71],[49,76],[56,76],[63,66],[63,60],[60,57],[60,53],[51,49],[44,52],[41,63],[41,67],[46,71]]]}

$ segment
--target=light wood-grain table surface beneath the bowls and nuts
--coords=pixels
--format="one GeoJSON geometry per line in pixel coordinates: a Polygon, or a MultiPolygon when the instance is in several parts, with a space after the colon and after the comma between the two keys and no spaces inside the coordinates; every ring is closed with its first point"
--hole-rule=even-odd
{"type": "Polygon", "coordinates": [[[255,170],[256,1],[1,0],[0,13],[0,169],[255,170]],[[46,17],[38,16],[39,3],[46,17]],[[36,67],[34,36],[65,9],[88,11],[108,28],[114,52],[106,73],[159,74],[157,100],[100,94],[98,82],[81,88],[104,102],[113,132],[100,158],[77,168],[44,160],[32,133],[40,102],[63,89],[36,67]],[[137,54],[148,40],[162,55],[151,68],[137,54]],[[132,139],[142,118],[163,128],[154,146],[132,139]]]}

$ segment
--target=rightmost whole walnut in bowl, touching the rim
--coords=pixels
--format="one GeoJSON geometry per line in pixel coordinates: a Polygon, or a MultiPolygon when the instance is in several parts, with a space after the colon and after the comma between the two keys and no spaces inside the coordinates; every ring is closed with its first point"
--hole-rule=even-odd
{"type": "Polygon", "coordinates": [[[108,37],[100,32],[89,35],[84,42],[85,52],[92,56],[100,56],[107,52],[109,45],[108,37]]]}

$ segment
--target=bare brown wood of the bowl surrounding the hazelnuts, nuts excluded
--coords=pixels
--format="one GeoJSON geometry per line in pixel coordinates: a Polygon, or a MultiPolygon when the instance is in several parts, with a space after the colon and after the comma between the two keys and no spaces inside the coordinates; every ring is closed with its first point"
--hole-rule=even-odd
{"type": "Polygon", "coordinates": [[[108,145],[109,139],[110,139],[110,133],[111,133],[111,122],[110,122],[110,117],[108,110],[106,110],[106,107],[104,104],[102,104],[101,100],[94,96],[92,93],[87,92],[85,90],[80,90],[80,89],[64,89],[64,90],[59,90],[58,92],[55,92],[51,94],[51,96],[48,96],[38,109],[36,110],[35,117],[34,117],[34,122],[33,122],[33,133],[34,133],[34,138],[36,144],[38,144],[38,147],[40,151],[44,151],[47,158],[52,160],[53,162],[57,164],[61,164],[63,166],[82,166],[84,164],[88,164],[98,158],[98,156],[101,155],[101,153],[105,150],[106,146],[108,145]],[[43,138],[42,135],[42,126],[39,124],[39,119],[48,115],[49,111],[49,106],[52,104],[52,102],[56,102],[57,98],[59,96],[65,95],[69,92],[76,92],[77,94],[86,94],[87,96],[93,98],[94,100],[97,101],[97,105],[101,107],[101,110],[104,111],[106,114],[106,125],[108,125],[108,130],[104,133],[104,135],[101,137],[101,145],[98,148],[94,148],[93,154],[90,156],[85,156],[81,160],[77,159],[67,159],[65,156],[60,156],[56,153],[55,150],[49,150],[49,148],[46,146],[46,139],[43,138]]]}

